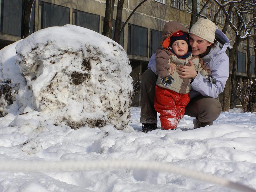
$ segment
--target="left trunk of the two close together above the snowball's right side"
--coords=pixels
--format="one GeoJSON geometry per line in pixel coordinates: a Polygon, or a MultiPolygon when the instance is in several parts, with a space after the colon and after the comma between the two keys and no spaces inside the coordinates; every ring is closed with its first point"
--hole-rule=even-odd
{"type": "Polygon", "coordinates": [[[113,14],[114,14],[115,0],[106,0],[105,18],[103,24],[102,35],[111,38],[113,28],[113,14]]]}

